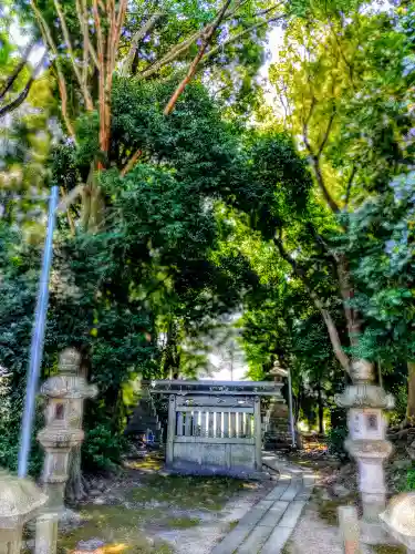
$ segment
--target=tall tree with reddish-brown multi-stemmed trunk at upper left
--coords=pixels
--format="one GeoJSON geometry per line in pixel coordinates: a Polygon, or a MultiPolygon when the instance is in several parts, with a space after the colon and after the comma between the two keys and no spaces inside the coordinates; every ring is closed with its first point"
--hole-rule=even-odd
{"type": "MultiPolygon", "coordinates": [[[[246,45],[258,44],[255,55],[259,60],[268,24],[282,18],[280,3],[266,2],[263,7],[259,0],[226,0],[219,8],[216,2],[200,7],[193,0],[166,0],[157,6],[142,1],[129,6],[126,0],[105,4],[95,0],[64,4],[59,0],[31,0],[31,7],[43,42],[53,55],[62,121],[74,143],[79,142],[79,131],[73,120],[80,111],[93,117],[96,111],[93,160],[65,203],[82,194],[83,227],[95,230],[104,217],[98,176],[111,166],[115,73],[134,75],[136,80],[166,76],[186,66],[186,59],[191,59],[196,49],[187,75],[166,102],[168,115],[196,71],[205,64],[221,64],[220,53],[228,47],[234,59],[243,61],[246,45]]],[[[122,175],[134,167],[141,155],[138,150],[124,152],[118,165],[122,175]]]]}

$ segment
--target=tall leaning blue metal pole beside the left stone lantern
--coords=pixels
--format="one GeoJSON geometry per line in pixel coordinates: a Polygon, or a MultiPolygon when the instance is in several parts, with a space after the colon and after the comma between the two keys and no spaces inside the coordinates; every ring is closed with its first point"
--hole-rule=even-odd
{"type": "Polygon", "coordinates": [[[22,429],[20,439],[20,451],[19,451],[19,469],[18,469],[20,478],[24,478],[28,474],[28,462],[29,462],[30,445],[31,445],[32,430],[33,430],[35,397],[38,392],[39,375],[43,357],[44,328],[46,322],[48,300],[49,300],[49,276],[52,265],[53,230],[56,219],[55,213],[56,213],[58,202],[59,202],[59,187],[53,186],[49,199],[48,233],[42,257],[42,271],[39,281],[37,310],[34,315],[32,343],[30,349],[30,361],[28,369],[24,411],[22,417],[22,429]]]}

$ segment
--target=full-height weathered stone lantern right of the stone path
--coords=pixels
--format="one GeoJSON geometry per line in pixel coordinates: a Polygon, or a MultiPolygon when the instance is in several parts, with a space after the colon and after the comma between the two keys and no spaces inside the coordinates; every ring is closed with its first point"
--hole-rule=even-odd
{"type": "Polygon", "coordinates": [[[383,410],[393,408],[394,399],[373,383],[373,366],[365,360],[353,363],[352,379],[353,384],[346,387],[336,401],[349,409],[349,438],[344,445],[359,465],[363,505],[361,540],[365,544],[378,544],[384,542],[378,516],[386,505],[383,463],[392,453],[383,410]]]}

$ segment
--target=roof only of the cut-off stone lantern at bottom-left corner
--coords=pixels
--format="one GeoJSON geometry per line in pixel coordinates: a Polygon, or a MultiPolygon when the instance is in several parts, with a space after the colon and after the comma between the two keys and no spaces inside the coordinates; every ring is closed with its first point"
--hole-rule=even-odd
{"type": "Polygon", "coordinates": [[[0,470],[0,530],[24,525],[46,500],[48,496],[29,479],[0,470]]]}

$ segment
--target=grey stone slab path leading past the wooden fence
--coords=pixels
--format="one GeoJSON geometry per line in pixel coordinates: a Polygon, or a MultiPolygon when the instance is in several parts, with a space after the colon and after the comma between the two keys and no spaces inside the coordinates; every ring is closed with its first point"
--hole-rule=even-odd
{"type": "Polygon", "coordinates": [[[263,464],[279,471],[276,488],[256,504],[211,554],[279,554],[310,499],[314,475],[266,453],[263,464]]]}

